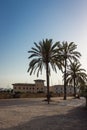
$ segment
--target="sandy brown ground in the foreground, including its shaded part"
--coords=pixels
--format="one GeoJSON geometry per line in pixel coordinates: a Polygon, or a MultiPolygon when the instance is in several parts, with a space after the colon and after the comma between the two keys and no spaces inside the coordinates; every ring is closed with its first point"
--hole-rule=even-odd
{"type": "Polygon", "coordinates": [[[87,130],[85,99],[0,100],[0,130],[87,130]]]}

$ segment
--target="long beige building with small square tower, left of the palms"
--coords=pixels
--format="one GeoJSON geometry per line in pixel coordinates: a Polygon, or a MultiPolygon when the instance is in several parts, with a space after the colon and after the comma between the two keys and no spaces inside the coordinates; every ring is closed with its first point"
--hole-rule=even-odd
{"type": "Polygon", "coordinates": [[[13,85],[14,92],[30,92],[38,93],[45,92],[44,80],[34,80],[35,84],[28,83],[15,83],[13,85]]]}

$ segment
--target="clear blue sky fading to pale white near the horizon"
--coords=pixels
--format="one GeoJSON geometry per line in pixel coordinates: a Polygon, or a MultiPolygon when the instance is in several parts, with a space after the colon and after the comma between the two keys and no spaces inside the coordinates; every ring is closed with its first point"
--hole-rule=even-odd
{"type": "MultiPolygon", "coordinates": [[[[46,38],[74,42],[87,70],[86,35],[87,0],[0,0],[0,87],[37,79],[27,73],[28,51],[46,38]]],[[[46,80],[45,70],[38,79],[46,80]]],[[[52,72],[50,84],[62,84],[60,71],[52,72]]]]}

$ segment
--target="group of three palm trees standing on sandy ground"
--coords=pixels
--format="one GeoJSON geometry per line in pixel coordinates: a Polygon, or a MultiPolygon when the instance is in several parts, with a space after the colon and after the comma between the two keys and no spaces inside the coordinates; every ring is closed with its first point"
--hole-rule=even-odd
{"type": "Polygon", "coordinates": [[[47,101],[49,104],[49,77],[51,68],[57,73],[61,70],[64,80],[64,100],[66,100],[66,86],[72,84],[74,86],[74,95],[76,96],[76,86],[80,86],[87,80],[85,70],[81,68],[79,58],[80,52],[76,51],[77,45],[74,42],[56,42],[52,39],[45,39],[39,43],[34,43],[34,47],[28,51],[30,75],[37,72],[42,74],[43,68],[46,70],[47,81],[47,101]]]}

